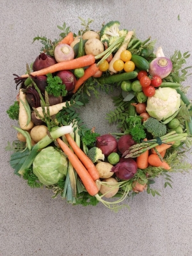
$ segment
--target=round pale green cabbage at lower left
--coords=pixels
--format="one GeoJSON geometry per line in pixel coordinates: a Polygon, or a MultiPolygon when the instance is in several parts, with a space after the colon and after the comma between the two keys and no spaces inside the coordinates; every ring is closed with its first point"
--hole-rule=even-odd
{"type": "Polygon", "coordinates": [[[33,173],[44,185],[56,184],[67,175],[67,158],[54,147],[47,147],[35,157],[33,173]]]}

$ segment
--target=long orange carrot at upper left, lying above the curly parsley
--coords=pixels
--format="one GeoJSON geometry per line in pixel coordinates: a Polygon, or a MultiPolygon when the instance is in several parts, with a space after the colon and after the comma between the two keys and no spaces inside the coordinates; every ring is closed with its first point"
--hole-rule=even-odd
{"type": "MultiPolygon", "coordinates": [[[[95,56],[93,56],[92,54],[88,54],[73,60],[56,63],[50,67],[43,68],[35,72],[31,72],[31,76],[42,76],[42,75],[47,75],[48,73],[54,73],[61,70],[82,68],[82,67],[90,66],[93,63],[95,63],[95,56]]],[[[22,75],[21,77],[29,77],[29,75],[25,74],[25,75],[22,75]]]]}

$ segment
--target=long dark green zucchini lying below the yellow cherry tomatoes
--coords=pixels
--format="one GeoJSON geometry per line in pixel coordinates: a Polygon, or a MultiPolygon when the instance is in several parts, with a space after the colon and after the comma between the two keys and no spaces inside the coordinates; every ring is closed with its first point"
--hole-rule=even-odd
{"type": "Polygon", "coordinates": [[[138,72],[132,71],[132,72],[125,72],[122,74],[115,74],[108,77],[99,77],[97,78],[97,82],[100,84],[115,84],[121,81],[134,79],[138,76],[138,72]]]}

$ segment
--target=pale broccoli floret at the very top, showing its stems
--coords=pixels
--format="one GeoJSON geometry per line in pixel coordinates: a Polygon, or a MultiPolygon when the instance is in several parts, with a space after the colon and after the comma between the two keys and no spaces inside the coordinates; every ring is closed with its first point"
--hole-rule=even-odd
{"type": "Polygon", "coordinates": [[[107,42],[108,46],[113,44],[115,40],[121,36],[127,35],[127,29],[119,30],[120,22],[110,21],[100,30],[100,41],[107,42]]]}

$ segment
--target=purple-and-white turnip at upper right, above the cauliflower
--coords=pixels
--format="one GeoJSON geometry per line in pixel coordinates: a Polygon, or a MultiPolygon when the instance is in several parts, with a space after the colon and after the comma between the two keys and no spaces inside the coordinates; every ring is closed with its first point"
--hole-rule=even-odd
{"type": "Polygon", "coordinates": [[[163,79],[172,72],[172,68],[173,64],[169,58],[158,57],[151,61],[148,72],[151,76],[159,76],[163,79]]]}

